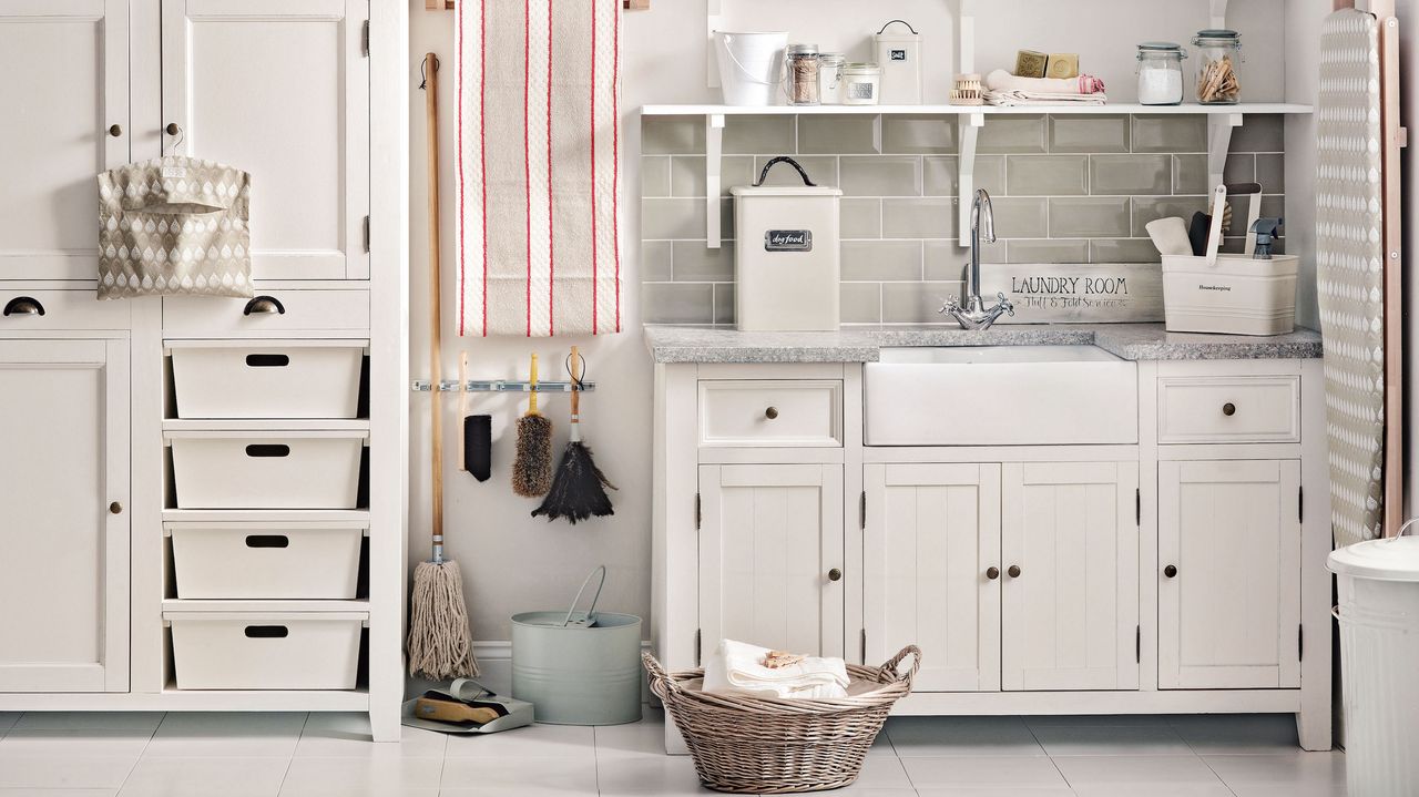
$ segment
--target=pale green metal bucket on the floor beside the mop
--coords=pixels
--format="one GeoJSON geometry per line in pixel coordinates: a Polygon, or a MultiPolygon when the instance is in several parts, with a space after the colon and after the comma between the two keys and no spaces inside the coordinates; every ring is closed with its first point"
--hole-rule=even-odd
{"type": "Polygon", "coordinates": [[[592,570],[569,611],[512,615],[512,696],[551,725],[624,725],[640,719],[640,617],[596,611],[606,567],[592,570]],[[590,608],[576,604],[600,574],[590,608]]]}

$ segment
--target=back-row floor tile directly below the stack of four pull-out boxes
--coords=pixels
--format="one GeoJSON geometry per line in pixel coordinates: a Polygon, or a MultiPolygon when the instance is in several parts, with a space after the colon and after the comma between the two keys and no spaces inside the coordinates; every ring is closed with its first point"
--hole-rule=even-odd
{"type": "Polygon", "coordinates": [[[172,712],[143,754],[288,757],[295,753],[302,728],[304,713],[172,712]]]}

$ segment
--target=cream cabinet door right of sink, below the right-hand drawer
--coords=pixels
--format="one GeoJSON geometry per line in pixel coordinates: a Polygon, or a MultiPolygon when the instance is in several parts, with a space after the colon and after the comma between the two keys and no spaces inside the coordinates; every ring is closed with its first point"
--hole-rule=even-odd
{"type": "Polygon", "coordinates": [[[1300,686],[1301,464],[1159,462],[1158,479],[1158,686],[1300,686]]]}

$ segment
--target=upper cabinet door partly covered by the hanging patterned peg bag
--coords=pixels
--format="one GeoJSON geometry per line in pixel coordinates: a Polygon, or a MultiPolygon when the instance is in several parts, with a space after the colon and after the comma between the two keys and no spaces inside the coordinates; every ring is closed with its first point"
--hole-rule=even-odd
{"type": "Polygon", "coordinates": [[[251,173],[258,279],[369,277],[368,18],[368,0],[163,0],[165,150],[251,173]]]}

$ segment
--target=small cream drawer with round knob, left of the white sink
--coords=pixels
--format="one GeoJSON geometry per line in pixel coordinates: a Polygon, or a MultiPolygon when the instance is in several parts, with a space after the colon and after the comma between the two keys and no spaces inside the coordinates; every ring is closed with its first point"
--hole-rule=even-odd
{"type": "Polygon", "coordinates": [[[843,445],[839,380],[705,380],[700,445],[836,448],[843,445]]]}

